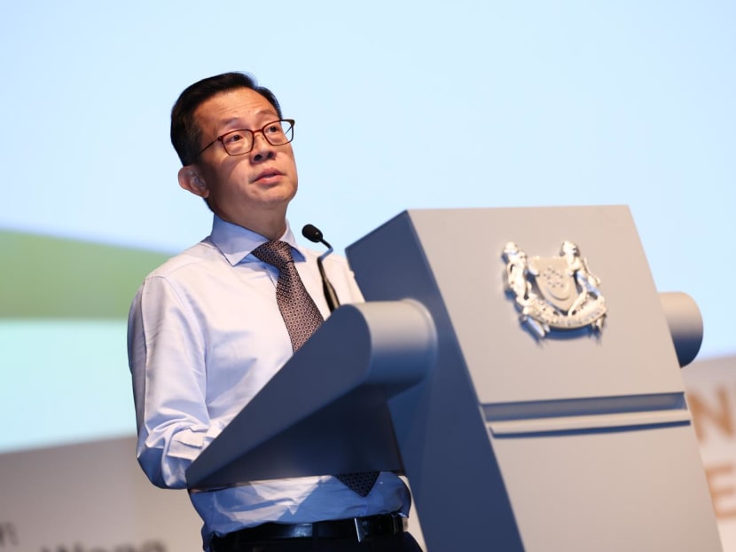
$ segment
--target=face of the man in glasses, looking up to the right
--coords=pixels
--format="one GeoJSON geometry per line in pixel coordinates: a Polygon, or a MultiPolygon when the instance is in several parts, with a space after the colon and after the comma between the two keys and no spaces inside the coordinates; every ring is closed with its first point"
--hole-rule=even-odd
{"type": "MultiPolygon", "coordinates": [[[[278,120],[269,101],[247,88],[216,94],[197,108],[194,117],[201,130],[201,147],[225,132],[260,130],[278,120]]],[[[271,229],[285,224],[286,207],[298,182],[292,145],[271,146],[261,132],[255,133],[253,149],[247,154],[231,156],[218,141],[179,175],[182,186],[207,198],[219,217],[259,233],[266,230],[264,224],[271,229]],[[190,176],[187,185],[183,174],[190,176]]]]}

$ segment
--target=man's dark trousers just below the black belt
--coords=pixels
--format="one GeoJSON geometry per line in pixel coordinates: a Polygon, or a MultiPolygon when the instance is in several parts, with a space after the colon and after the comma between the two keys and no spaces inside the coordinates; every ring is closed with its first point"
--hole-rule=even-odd
{"type": "Polygon", "coordinates": [[[238,548],[223,548],[215,541],[212,552],[422,552],[408,532],[379,536],[358,542],[355,539],[271,539],[240,543],[238,548]]]}

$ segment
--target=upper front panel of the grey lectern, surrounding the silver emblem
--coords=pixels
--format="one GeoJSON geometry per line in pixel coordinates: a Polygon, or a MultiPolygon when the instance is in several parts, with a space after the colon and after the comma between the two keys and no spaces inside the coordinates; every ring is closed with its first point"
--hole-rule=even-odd
{"type": "MultiPolygon", "coordinates": [[[[411,210],[482,404],[682,392],[667,321],[625,207],[411,210]],[[539,338],[505,293],[505,244],[529,259],[573,241],[600,280],[599,333],[539,338]]],[[[541,264],[541,262],[540,262],[541,264]]],[[[557,270],[557,269],[555,269],[557,270]]]]}

